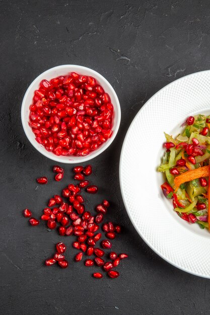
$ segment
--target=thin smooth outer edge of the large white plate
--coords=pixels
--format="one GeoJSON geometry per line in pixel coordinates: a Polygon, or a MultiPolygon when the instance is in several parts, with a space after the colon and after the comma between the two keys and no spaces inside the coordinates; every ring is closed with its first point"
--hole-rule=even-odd
{"type": "Polygon", "coordinates": [[[160,93],[161,91],[163,91],[164,89],[168,88],[170,85],[174,84],[175,82],[177,81],[181,81],[181,80],[184,80],[184,78],[186,77],[189,77],[189,76],[193,76],[193,75],[196,75],[196,74],[199,74],[199,73],[204,73],[204,72],[210,72],[210,69],[209,70],[202,70],[202,71],[197,71],[197,72],[193,72],[193,73],[190,73],[190,74],[187,74],[187,75],[184,75],[172,82],[170,82],[169,84],[167,84],[166,86],[164,86],[163,88],[161,88],[159,91],[157,91],[153,96],[151,96],[151,98],[149,98],[149,100],[147,100],[147,102],[141,107],[141,109],[138,110],[138,112],[136,113],[136,115],[134,116],[133,120],[131,121],[130,125],[129,125],[129,128],[127,129],[127,132],[126,132],[126,135],[124,137],[124,140],[123,140],[123,144],[122,144],[122,148],[121,148],[121,152],[120,152],[120,162],[119,162],[119,184],[120,184],[120,191],[121,191],[121,196],[122,196],[122,200],[123,200],[123,203],[124,203],[124,206],[125,206],[125,209],[126,209],[126,212],[128,214],[128,217],[132,223],[132,225],[134,226],[136,232],[138,233],[138,235],[143,239],[143,241],[159,256],[161,257],[162,259],[164,259],[167,263],[169,263],[170,265],[184,271],[184,272],[187,272],[191,275],[194,275],[194,276],[197,276],[197,277],[201,277],[201,278],[205,278],[205,279],[210,279],[210,274],[209,276],[205,276],[205,275],[200,275],[198,273],[195,273],[195,272],[192,272],[191,270],[188,270],[187,268],[183,268],[177,264],[175,264],[174,262],[171,262],[167,257],[164,257],[164,255],[160,254],[152,244],[150,244],[146,238],[142,235],[142,233],[138,230],[135,222],[133,221],[133,219],[131,218],[131,215],[130,215],[130,212],[128,210],[128,205],[126,203],[126,200],[125,200],[125,195],[123,194],[123,188],[122,188],[122,172],[121,172],[121,168],[122,168],[122,155],[123,155],[123,151],[124,151],[124,147],[125,147],[125,144],[126,144],[126,140],[127,140],[127,137],[128,137],[128,134],[135,122],[135,120],[137,119],[138,115],[141,114],[141,111],[147,106],[147,104],[158,94],[160,93]]]}

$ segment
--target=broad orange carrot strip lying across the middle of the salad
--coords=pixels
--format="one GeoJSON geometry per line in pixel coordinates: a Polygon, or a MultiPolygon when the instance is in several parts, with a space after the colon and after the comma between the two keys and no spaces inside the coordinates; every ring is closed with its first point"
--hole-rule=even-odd
{"type": "MultiPolygon", "coordinates": [[[[185,182],[192,181],[193,179],[197,179],[200,177],[209,176],[209,166],[203,166],[202,168],[189,170],[174,179],[175,183],[175,192],[178,190],[179,186],[185,182]]],[[[210,186],[210,185],[209,185],[210,186]]],[[[210,196],[210,194],[209,194],[210,196]]]]}

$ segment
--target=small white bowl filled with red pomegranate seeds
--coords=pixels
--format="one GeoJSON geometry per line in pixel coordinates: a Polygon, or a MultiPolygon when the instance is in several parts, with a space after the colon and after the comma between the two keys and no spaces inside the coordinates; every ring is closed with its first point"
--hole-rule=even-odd
{"type": "Polygon", "coordinates": [[[60,65],[40,74],[23,99],[21,118],[31,144],[49,159],[81,163],[114,140],[120,105],[109,82],[80,65],[60,65]]]}

